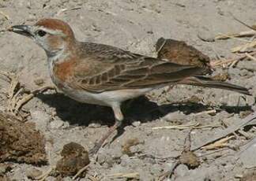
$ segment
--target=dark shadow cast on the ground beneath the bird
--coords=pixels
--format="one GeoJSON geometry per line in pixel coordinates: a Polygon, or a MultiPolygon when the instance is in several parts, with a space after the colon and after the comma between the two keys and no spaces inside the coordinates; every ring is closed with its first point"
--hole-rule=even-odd
{"type": "MultiPolygon", "coordinates": [[[[70,126],[88,126],[88,124],[91,123],[99,123],[101,125],[109,126],[115,123],[114,114],[109,107],[77,102],[66,97],[64,94],[59,93],[39,94],[37,97],[47,105],[54,107],[57,116],[64,121],[68,121],[70,126]]],[[[149,98],[142,96],[122,104],[122,113],[124,113],[125,116],[123,126],[131,124],[135,120],[139,120],[141,123],[156,120],[157,118],[178,110],[185,114],[190,114],[200,113],[209,108],[209,105],[194,102],[157,105],[156,102],[151,102],[149,98]]],[[[240,111],[251,110],[249,106],[223,107],[222,109],[229,113],[239,113],[240,111]]]]}

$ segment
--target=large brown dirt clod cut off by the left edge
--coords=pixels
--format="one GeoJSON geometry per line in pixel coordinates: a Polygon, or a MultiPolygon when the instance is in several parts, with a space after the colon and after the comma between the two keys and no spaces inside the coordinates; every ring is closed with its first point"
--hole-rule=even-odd
{"type": "Polygon", "coordinates": [[[43,135],[35,125],[21,123],[13,116],[0,113],[0,162],[16,161],[46,164],[43,135]]]}

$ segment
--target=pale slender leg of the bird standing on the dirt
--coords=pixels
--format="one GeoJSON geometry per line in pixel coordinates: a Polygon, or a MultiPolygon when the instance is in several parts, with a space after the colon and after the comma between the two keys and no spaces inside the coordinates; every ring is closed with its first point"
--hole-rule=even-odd
{"type": "Polygon", "coordinates": [[[115,114],[115,124],[109,128],[107,133],[98,141],[96,142],[95,146],[92,150],[89,151],[89,154],[95,154],[100,150],[101,146],[104,145],[104,142],[112,135],[112,133],[121,126],[123,115],[121,111],[120,104],[112,105],[113,112],[115,114]]]}

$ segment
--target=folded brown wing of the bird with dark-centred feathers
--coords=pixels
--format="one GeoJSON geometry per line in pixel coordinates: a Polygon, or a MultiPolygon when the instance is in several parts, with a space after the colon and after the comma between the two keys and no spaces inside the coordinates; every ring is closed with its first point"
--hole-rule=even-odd
{"type": "Polygon", "coordinates": [[[70,81],[77,88],[94,93],[175,84],[188,76],[201,75],[202,71],[101,44],[83,44],[81,52],[81,61],[70,81]]]}

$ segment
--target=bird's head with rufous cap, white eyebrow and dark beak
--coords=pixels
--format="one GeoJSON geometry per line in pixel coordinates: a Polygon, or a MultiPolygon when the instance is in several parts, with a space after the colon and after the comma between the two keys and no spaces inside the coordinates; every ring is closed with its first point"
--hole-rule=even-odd
{"type": "Polygon", "coordinates": [[[33,39],[43,47],[48,56],[70,48],[76,41],[70,25],[56,19],[39,20],[34,25],[15,25],[9,28],[9,31],[33,39]]]}

